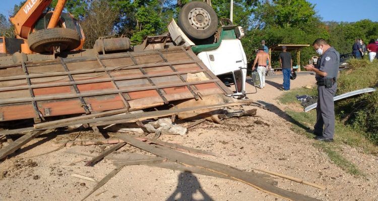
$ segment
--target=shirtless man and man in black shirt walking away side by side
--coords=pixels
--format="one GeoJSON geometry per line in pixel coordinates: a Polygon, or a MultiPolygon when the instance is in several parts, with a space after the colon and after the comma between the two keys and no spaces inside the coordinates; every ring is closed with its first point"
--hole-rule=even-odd
{"type": "MultiPolygon", "coordinates": [[[[283,74],[283,90],[288,91],[290,90],[290,74],[293,71],[293,59],[291,58],[290,52],[287,52],[286,46],[282,46],[279,61],[283,74]]],[[[265,40],[261,41],[261,46],[256,54],[256,58],[252,66],[252,71],[255,70],[256,64],[258,64],[257,71],[260,76],[260,88],[264,88],[266,71],[272,67],[271,60],[268,55],[268,47],[265,45],[265,40]]]]}

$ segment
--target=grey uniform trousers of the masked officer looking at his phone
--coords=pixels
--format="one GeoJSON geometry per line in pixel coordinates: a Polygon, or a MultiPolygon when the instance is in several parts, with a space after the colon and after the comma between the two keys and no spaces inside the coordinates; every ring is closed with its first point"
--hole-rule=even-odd
{"type": "Polygon", "coordinates": [[[317,123],[314,126],[314,134],[333,139],[335,134],[335,96],[337,84],[331,88],[318,85],[317,123]]]}

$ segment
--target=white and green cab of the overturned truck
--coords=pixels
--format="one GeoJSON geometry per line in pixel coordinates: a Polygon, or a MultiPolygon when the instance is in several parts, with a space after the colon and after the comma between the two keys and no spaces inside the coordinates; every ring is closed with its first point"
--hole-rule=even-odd
{"type": "Polygon", "coordinates": [[[226,86],[234,85],[235,98],[245,97],[247,60],[240,38],[244,32],[240,26],[228,25],[218,29],[215,43],[195,45],[174,20],[168,25],[169,34],[177,45],[190,46],[204,64],[217,75],[226,86]]]}

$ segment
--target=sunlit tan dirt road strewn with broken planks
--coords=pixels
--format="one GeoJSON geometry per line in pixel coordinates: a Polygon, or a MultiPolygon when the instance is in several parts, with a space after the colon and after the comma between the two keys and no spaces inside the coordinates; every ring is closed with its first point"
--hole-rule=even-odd
{"type": "MultiPolygon", "coordinates": [[[[231,118],[222,125],[205,122],[191,129],[186,136],[162,136],[160,140],[215,152],[220,156],[199,157],[242,170],[265,169],[322,184],[326,190],[274,177],[283,189],[321,200],[378,200],[378,157],[344,147],[348,160],[356,164],[365,177],[353,176],[333,164],[325,153],[313,147],[312,139],[290,129],[291,123],[285,120],[283,112],[285,106],[279,105],[275,99],[283,93],[278,89],[281,83],[282,78],[268,78],[264,89],[248,94],[249,98],[271,109],[258,108],[259,117],[231,118]],[[257,120],[263,124],[255,123],[257,120]]],[[[291,88],[307,84],[314,84],[313,75],[298,76],[292,81],[291,88]]],[[[255,88],[249,85],[247,90],[253,92],[255,88]]],[[[252,108],[255,107],[246,107],[252,108]]],[[[80,135],[80,138],[93,137],[85,133],[80,135]]],[[[0,200],[80,200],[96,183],[72,177],[72,173],[99,181],[115,167],[110,160],[86,167],[84,164],[90,157],[66,153],[67,150],[76,150],[98,154],[105,148],[99,145],[65,147],[28,158],[56,149],[53,142],[65,139],[64,136],[53,138],[35,139],[12,158],[0,163],[0,200]]],[[[128,145],[118,152],[141,153],[128,145]]],[[[282,199],[238,181],[136,165],[125,166],[86,200],[282,199]]]]}

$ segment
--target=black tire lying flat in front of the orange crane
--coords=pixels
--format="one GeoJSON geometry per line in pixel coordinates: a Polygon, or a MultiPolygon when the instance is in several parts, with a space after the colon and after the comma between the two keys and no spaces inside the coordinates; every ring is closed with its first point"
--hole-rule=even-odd
{"type": "Polygon", "coordinates": [[[70,51],[80,46],[80,36],[73,29],[43,29],[29,34],[29,48],[33,52],[52,52],[54,46],[60,51],[70,51]]]}

